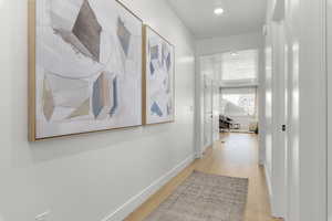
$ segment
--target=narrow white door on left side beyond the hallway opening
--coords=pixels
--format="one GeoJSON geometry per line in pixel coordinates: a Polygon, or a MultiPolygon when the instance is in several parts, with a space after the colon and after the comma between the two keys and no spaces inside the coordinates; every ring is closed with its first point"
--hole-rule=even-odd
{"type": "Polygon", "coordinates": [[[212,95],[214,84],[212,80],[208,76],[204,76],[204,149],[212,145],[212,125],[214,125],[214,113],[212,113],[212,95]]]}

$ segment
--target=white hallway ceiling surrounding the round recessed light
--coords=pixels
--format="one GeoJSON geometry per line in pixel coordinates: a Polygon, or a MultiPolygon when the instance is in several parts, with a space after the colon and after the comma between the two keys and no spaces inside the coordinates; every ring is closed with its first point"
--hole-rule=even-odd
{"type": "Polygon", "coordinates": [[[260,31],[267,0],[168,0],[177,15],[197,39],[229,36],[260,31]],[[214,13],[216,6],[225,9],[214,13]]]}

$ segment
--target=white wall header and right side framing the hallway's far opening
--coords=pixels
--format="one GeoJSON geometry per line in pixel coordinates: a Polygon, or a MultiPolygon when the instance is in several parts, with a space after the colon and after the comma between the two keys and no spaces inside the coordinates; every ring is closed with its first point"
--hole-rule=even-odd
{"type": "MultiPolygon", "coordinates": [[[[196,41],[196,56],[214,55],[229,51],[240,51],[248,49],[259,49],[259,146],[260,164],[264,162],[264,64],[263,64],[263,36],[262,33],[247,33],[241,35],[205,39],[196,41]]],[[[197,60],[198,61],[198,60],[197,60]]],[[[219,78],[218,78],[219,81],[219,78]]],[[[197,90],[199,90],[197,87],[197,90]]]]}

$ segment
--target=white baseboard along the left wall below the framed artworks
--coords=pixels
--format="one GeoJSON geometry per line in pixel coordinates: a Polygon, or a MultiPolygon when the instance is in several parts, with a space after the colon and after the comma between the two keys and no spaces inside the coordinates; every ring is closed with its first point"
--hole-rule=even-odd
{"type": "Polygon", "coordinates": [[[121,221],[137,209],[143,202],[145,202],[151,196],[158,191],[164,185],[166,185],[172,178],[177,176],[183,169],[190,165],[195,159],[191,155],[181,161],[179,165],[174,167],[172,170],[166,172],[159,179],[154,181],[151,186],[142,190],[138,194],[132,197],[127,202],[121,206],[118,209],[113,211],[111,214],[102,219],[102,221],[121,221]]]}

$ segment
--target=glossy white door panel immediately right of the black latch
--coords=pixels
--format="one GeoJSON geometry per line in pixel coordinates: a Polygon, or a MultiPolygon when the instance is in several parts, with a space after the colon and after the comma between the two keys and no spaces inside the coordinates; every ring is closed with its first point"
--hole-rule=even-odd
{"type": "Polygon", "coordinates": [[[298,96],[293,92],[298,88],[298,62],[299,48],[293,44],[291,30],[286,28],[286,108],[287,108],[287,133],[286,133],[286,220],[299,220],[299,140],[298,140],[298,96]]]}

